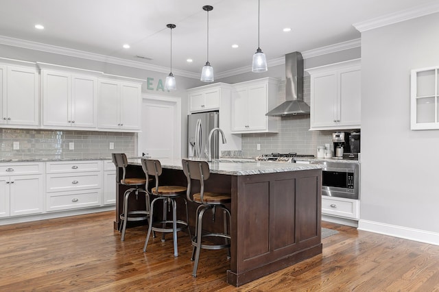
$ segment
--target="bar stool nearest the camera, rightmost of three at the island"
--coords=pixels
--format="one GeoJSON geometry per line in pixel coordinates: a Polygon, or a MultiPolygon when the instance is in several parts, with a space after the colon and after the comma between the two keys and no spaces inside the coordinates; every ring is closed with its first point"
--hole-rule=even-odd
{"type": "Polygon", "coordinates": [[[197,217],[195,219],[195,236],[192,237],[192,257],[195,265],[193,265],[192,276],[197,276],[198,260],[200,260],[200,250],[202,248],[206,250],[221,250],[228,248],[228,258],[230,258],[230,234],[227,232],[227,217],[230,222],[230,210],[225,206],[232,202],[232,197],[228,193],[210,193],[204,191],[204,180],[209,179],[211,171],[206,161],[195,160],[182,160],[183,172],[187,178],[187,199],[191,202],[200,204],[197,208],[197,217]],[[191,180],[200,181],[200,193],[195,193],[191,196],[191,180]],[[222,208],[224,210],[224,233],[204,233],[202,234],[202,221],[203,215],[206,210],[211,209],[213,213],[213,219],[215,219],[215,209],[222,208]],[[226,216],[228,215],[228,216],[226,216]],[[202,239],[204,237],[220,237],[224,238],[224,244],[207,243],[202,239]]]}

